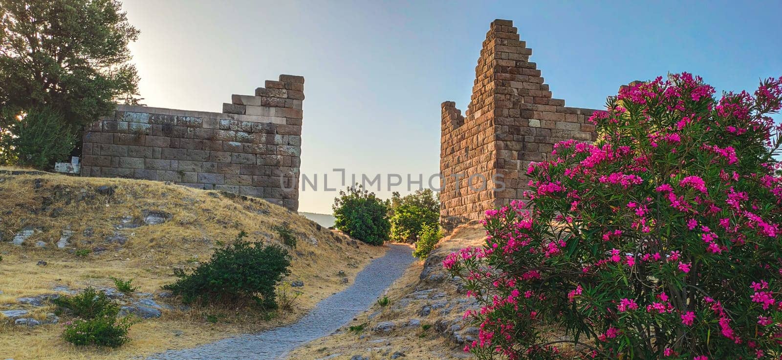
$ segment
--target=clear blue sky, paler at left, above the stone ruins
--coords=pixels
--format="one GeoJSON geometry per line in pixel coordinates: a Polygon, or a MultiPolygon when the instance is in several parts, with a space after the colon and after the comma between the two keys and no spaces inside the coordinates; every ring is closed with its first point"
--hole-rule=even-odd
{"type": "Polygon", "coordinates": [[[321,187],[300,193],[306,212],[331,212],[336,193],[322,176],[332,187],[333,168],[384,179],[439,171],[439,104],[466,108],[494,19],[514,21],[569,106],[600,107],[620,84],[669,72],[718,91],[782,76],[779,1],[125,0],[124,9],[142,31],[131,51],[147,105],[219,112],[280,73],[305,77],[301,170],[321,187]]]}

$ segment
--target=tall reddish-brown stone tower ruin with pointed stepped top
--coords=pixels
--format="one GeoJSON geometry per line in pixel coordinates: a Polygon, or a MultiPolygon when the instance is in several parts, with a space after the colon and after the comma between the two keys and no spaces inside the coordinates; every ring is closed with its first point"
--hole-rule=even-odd
{"type": "Polygon", "coordinates": [[[565,100],[552,98],[529,55],[532,49],[519,41],[513,22],[494,20],[464,116],[454,102],[443,102],[440,219],[447,228],[522,198],[529,162],[547,159],[554,144],[597,137],[587,123],[594,110],[565,107],[565,100]],[[493,180],[504,182],[504,190],[493,180]]]}

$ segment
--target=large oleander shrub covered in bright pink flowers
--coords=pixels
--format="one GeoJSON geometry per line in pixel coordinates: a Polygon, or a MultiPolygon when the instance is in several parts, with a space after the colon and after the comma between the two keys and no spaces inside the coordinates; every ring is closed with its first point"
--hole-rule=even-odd
{"type": "Polygon", "coordinates": [[[465,350],[780,358],[780,129],[767,114],[782,77],[712,94],[688,73],[624,87],[590,118],[595,144],[561,142],[529,167],[529,201],[486,212],[486,243],[443,262],[482,305],[465,314],[480,328],[465,350]]]}

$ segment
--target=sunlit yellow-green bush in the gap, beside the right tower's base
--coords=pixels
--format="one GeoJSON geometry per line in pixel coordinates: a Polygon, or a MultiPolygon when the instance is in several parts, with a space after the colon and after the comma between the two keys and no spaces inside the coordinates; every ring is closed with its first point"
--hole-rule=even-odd
{"type": "Polygon", "coordinates": [[[391,203],[391,241],[418,241],[421,226],[436,227],[439,222],[439,200],[429,189],[416,191],[404,198],[395,192],[391,203]]]}

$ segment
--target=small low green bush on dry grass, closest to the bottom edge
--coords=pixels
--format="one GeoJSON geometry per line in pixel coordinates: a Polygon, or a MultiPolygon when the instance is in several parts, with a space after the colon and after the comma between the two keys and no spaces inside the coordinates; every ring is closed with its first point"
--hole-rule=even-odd
{"type": "Polygon", "coordinates": [[[101,315],[95,319],[75,319],[65,324],[63,338],[71,344],[99,345],[119,348],[131,339],[127,330],[133,325],[130,319],[117,320],[111,315],[101,315]]]}

